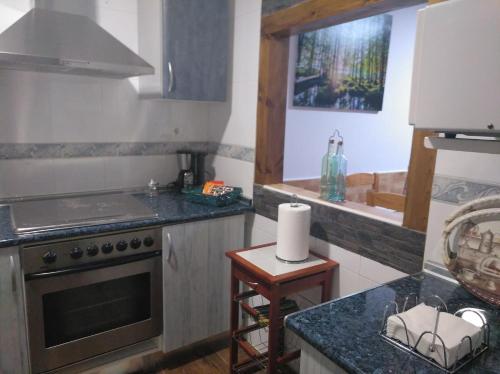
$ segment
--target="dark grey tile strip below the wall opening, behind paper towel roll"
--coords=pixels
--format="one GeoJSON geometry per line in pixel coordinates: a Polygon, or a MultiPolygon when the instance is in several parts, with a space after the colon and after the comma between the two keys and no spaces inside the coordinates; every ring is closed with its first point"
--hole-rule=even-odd
{"type": "MultiPolygon", "coordinates": [[[[254,185],[257,214],[277,220],[288,195],[254,185]]],[[[405,273],[422,270],[425,234],[326,205],[311,205],[311,235],[405,273]]]]}

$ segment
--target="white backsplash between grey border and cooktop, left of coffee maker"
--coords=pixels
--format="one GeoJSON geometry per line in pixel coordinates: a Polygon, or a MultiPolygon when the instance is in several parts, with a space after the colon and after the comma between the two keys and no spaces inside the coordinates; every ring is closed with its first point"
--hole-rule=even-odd
{"type": "Polygon", "coordinates": [[[0,196],[34,196],[146,187],[177,177],[177,158],[130,156],[53,160],[0,160],[0,196]]]}

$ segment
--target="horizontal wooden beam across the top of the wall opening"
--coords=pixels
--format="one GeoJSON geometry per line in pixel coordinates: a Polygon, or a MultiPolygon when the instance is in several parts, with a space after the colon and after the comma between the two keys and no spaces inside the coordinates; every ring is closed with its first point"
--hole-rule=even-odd
{"type": "Polygon", "coordinates": [[[304,0],[262,18],[267,35],[311,31],[392,10],[423,4],[426,0],[304,0]]]}

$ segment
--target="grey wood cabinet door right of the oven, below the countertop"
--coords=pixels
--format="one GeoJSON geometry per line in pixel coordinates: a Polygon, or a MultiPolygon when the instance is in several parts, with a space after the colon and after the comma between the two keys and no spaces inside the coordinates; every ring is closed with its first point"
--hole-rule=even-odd
{"type": "Polygon", "coordinates": [[[243,246],[245,216],[163,229],[163,349],[165,352],[229,330],[230,262],[243,246]]]}

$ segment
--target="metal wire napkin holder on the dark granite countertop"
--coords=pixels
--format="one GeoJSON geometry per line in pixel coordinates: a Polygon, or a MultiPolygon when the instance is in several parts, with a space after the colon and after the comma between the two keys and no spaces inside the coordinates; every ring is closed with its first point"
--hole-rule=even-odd
{"type": "Polygon", "coordinates": [[[442,313],[442,312],[446,312],[447,313],[448,312],[448,306],[443,301],[443,299],[440,298],[438,295],[432,295],[432,296],[426,297],[423,300],[421,300],[421,299],[419,299],[419,297],[416,294],[410,294],[410,295],[406,296],[406,298],[404,299],[403,308],[402,308],[401,311],[399,310],[398,303],[396,303],[395,301],[391,301],[390,303],[388,303],[385,306],[384,319],[383,319],[383,322],[382,322],[382,328],[380,329],[380,335],[381,335],[381,337],[385,341],[387,341],[388,343],[396,346],[397,348],[400,348],[400,349],[402,349],[405,352],[411,353],[412,355],[414,355],[414,356],[416,356],[416,357],[418,357],[418,358],[420,358],[420,359],[422,359],[422,360],[430,363],[431,365],[433,365],[433,366],[435,366],[435,367],[443,370],[445,373],[454,374],[457,371],[459,371],[461,368],[463,368],[465,365],[467,365],[470,362],[472,362],[473,360],[475,360],[477,357],[479,357],[482,353],[484,353],[489,348],[489,344],[490,344],[490,325],[488,324],[488,321],[486,320],[486,317],[484,315],[482,315],[481,313],[479,313],[474,308],[463,308],[463,309],[460,309],[460,310],[458,310],[458,311],[456,311],[454,313],[455,316],[461,317],[461,318],[462,318],[462,316],[463,316],[463,314],[465,312],[474,313],[476,316],[478,316],[479,319],[483,323],[483,325],[481,326],[481,334],[482,334],[483,341],[482,341],[482,343],[481,343],[481,345],[479,347],[477,347],[476,349],[473,349],[472,348],[472,338],[470,336],[468,336],[468,335],[464,336],[462,338],[462,341],[460,342],[460,346],[457,349],[457,355],[460,352],[460,348],[462,347],[462,344],[468,344],[468,346],[469,346],[469,353],[465,357],[461,358],[460,360],[456,360],[455,363],[451,366],[451,368],[448,368],[449,357],[447,357],[447,348],[446,348],[446,345],[444,344],[443,339],[437,333],[438,326],[439,326],[439,316],[440,316],[440,313],[442,313]],[[408,342],[408,345],[400,342],[399,340],[396,340],[396,339],[391,338],[391,337],[389,337],[389,336],[386,335],[386,333],[387,333],[387,320],[388,320],[388,318],[390,316],[393,316],[393,315],[396,315],[396,314],[399,314],[399,313],[403,313],[403,312],[406,312],[407,310],[409,310],[408,305],[411,304],[411,300],[414,300],[414,302],[415,302],[415,304],[413,306],[416,306],[419,303],[423,302],[426,305],[429,305],[429,306],[432,306],[432,307],[436,308],[436,310],[438,312],[436,314],[436,322],[434,323],[434,329],[433,329],[433,331],[424,331],[422,334],[420,334],[420,336],[416,340],[416,343],[415,343],[414,347],[412,347],[412,346],[409,345],[410,344],[410,339],[409,339],[409,333],[408,333],[408,329],[406,327],[406,323],[399,316],[396,316],[396,318],[398,318],[402,322],[403,326],[405,327],[405,335],[406,335],[406,341],[408,342]],[[434,305],[432,305],[432,302],[434,302],[434,305]],[[433,349],[434,350],[436,349],[435,348],[436,347],[436,341],[439,340],[439,342],[442,344],[442,346],[443,346],[443,352],[444,352],[444,363],[445,363],[446,367],[441,366],[439,363],[437,363],[433,359],[431,359],[431,358],[429,358],[429,357],[427,357],[427,356],[425,356],[422,353],[420,353],[420,352],[417,351],[416,347],[418,347],[418,345],[420,344],[420,341],[422,340],[422,338],[425,335],[431,335],[432,336],[432,343],[431,343],[431,345],[429,347],[429,349],[432,352],[433,352],[433,349]]]}

